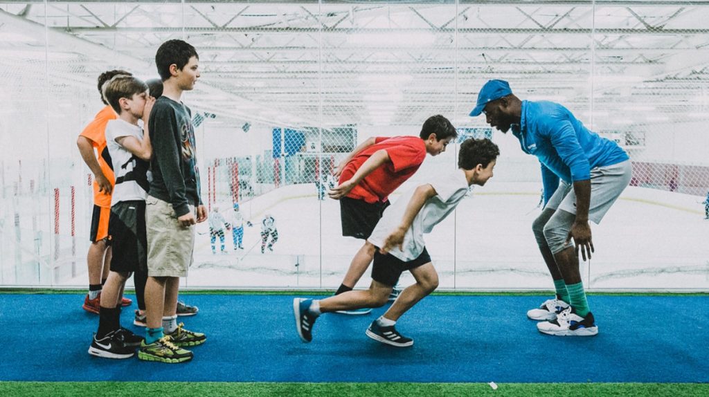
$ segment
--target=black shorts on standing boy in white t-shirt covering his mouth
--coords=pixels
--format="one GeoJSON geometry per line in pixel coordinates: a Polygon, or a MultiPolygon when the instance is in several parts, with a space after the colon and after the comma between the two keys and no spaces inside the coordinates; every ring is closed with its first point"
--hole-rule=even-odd
{"type": "Polygon", "coordinates": [[[145,201],[121,201],[113,205],[108,229],[113,246],[111,271],[147,272],[145,201]]]}

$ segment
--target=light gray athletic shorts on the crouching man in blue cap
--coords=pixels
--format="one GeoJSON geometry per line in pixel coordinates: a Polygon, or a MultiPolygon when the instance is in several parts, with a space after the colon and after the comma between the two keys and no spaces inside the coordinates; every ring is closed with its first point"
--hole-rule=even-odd
{"type": "MultiPolygon", "coordinates": [[[[625,190],[632,177],[630,160],[612,166],[596,167],[591,169],[591,203],[588,207],[588,219],[596,224],[608,212],[620,193],[625,190]]],[[[559,184],[552,198],[547,202],[545,209],[562,209],[571,214],[576,214],[576,193],[574,186],[567,183],[559,184]]]]}

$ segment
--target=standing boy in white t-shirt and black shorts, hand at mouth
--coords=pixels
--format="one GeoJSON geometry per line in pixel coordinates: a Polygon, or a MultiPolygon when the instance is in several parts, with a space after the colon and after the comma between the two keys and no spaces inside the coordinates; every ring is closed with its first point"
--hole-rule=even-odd
{"type": "Polygon", "coordinates": [[[104,85],[104,97],[118,119],[106,125],[106,147],[116,185],[111,197],[108,234],[113,256],[111,272],[101,293],[99,329],[89,354],[123,359],[135,354],[143,338],[121,327],[121,294],[125,281],[136,270],[147,271],[145,237],[145,197],[148,189],[148,163],[152,156],[150,137],[138,125],[147,127],[155,98],[147,85],[133,76],[116,76],[104,85]]]}

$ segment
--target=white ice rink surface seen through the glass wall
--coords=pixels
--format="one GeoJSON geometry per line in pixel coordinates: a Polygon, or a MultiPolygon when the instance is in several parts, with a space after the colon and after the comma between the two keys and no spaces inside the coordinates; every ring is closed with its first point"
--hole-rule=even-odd
{"type": "MultiPolygon", "coordinates": [[[[531,231],[532,221],[540,214],[535,186],[491,181],[476,187],[454,214],[425,236],[440,275],[440,289],[552,287],[531,231]]],[[[596,253],[591,261],[581,263],[585,284],[590,289],[630,290],[709,287],[709,221],[703,220],[697,204],[701,198],[627,188],[602,223],[592,224],[596,253]]],[[[392,201],[397,199],[398,195],[391,196],[392,201]]],[[[225,213],[230,205],[224,203],[220,208],[225,213]]],[[[362,246],[362,241],[342,237],[339,203],[318,200],[313,184],[273,190],[242,202],[241,208],[245,220],[253,223],[245,226],[245,249],[234,251],[231,232],[225,231],[228,253],[213,254],[206,222],[198,225],[194,265],[184,281],[187,287],[335,288],[362,246]],[[260,221],[266,213],[277,221],[279,241],[273,252],[261,253],[260,221]]],[[[60,237],[62,247],[53,277],[49,277],[40,263],[43,255],[32,255],[31,247],[22,248],[18,260],[17,246],[6,240],[13,238],[11,217],[5,214],[4,219],[4,284],[13,284],[13,277],[22,285],[85,284],[87,243],[83,236],[73,248],[69,236],[60,237]]],[[[367,287],[370,280],[367,272],[359,286],[367,287]]],[[[413,279],[406,273],[402,281],[408,284],[413,279]]]]}

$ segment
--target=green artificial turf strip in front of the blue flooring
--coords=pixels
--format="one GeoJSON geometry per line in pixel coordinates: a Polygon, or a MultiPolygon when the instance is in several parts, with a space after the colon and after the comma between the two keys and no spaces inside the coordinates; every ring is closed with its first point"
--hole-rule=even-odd
{"type": "Polygon", "coordinates": [[[0,382],[0,396],[709,396],[709,384],[0,382]]]}

